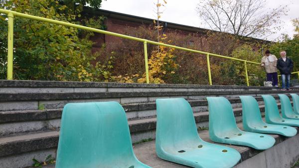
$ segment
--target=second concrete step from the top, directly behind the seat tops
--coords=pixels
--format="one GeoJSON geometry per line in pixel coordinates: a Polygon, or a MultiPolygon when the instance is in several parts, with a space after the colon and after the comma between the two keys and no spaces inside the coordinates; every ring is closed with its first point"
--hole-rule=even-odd
{"type": "Polygon", "coordinates": [[[102,93],[0,93],[0,111],[59,109],[67,103],[117,101],[121,104],[154,102],[157,98],[182,97],[187,100],[204,100],[208,96],[238,98],[240,95],[258,97],[264,94],[298,93],[299,90],[261,91],[172,91],[172,92],[102,92],[102,93]]]}

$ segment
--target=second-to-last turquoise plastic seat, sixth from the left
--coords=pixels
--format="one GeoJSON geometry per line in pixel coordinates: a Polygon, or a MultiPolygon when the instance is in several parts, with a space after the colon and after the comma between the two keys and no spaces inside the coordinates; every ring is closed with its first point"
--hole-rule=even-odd
{"type": "Polygon", "coordinates": [[[278,94],[278,96],[282,105],[283,118],[299,120],[299,115],[293,111],[290,98],[285,94],[278,94]]]}

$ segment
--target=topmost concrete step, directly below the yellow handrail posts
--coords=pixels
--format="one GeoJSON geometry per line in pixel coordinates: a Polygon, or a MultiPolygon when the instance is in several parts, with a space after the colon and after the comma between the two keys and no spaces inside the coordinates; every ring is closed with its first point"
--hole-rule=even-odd
{"type": "Polygon", "coordinates": [[[230,85],[180,85],[105,82],[60,82],[0,80],[0,93],[77,93],[77,92],[161,92],[161,91],[252,91],[277,90],[277,87],[230,85]]]}

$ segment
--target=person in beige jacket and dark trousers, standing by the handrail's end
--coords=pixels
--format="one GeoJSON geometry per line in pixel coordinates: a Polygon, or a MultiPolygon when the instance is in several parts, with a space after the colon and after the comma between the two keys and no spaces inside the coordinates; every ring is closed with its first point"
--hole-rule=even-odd
{"type": "Polygon", "coordinates": [[[269,50],[265,52],[265,56],[262,58],[261,66],[265,68],[267,74],[267,81],[272,81],[272,86],[278,87],[277,77],[277,58],[272,55],[269,50]]]}

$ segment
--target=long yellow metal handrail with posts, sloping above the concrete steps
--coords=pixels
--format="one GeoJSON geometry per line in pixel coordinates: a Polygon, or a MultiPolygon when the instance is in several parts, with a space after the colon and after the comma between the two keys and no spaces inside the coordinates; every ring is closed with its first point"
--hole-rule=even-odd
{"type": "Polygon", "coordinates": [[[184,51],[190,51],[190,52],[195,52],[195,53],[206,55],[207,56],[208,77],[209,77],[209,84],[210,85],[212,85],[212,77],[211,77],[211,68],[210,68],[209,56],[216,56],[216,57],[220,57],[220,58],[226,58],[226,59],[231,59],[231,60],[244,62],[247,86],[249,86],[247,65],[246,65],[247,62],[252,63],[252,64],[260,64],[260,63],[257,63],[257,62],[252,62],[252,61],[247,61],[247,60],[243,60],[243,59],[232,58],[232,57],[228,57],[228,56],[223,56],[223,55],[198,51],[198,50],[194,50],[194,49],[188,49],[188,48],[184,48],[184,47],[178,47],[178,46],[175,46],[175,45],[164,44],[164,43],[155,42],[155,41],[151,41],[151,40],[147,40],[147,39],[132,37],[132,36],[129,36],[129,35],[114,33],[114,32],[110,32],[110,31],[105,31],[105,30],[100,30],[100,29],[91,28],[91,27],[87,27],[87,26],[82,26],[82,25],[78,25],[78,24],[53,20],[53,19],[49,19],[49,18],[33,16],[33,15],[19,13],[19,12],[16,12],[16,11],[11,11],[11,10],[6,10],[6,9],[0,9],[0,13],[5,13],[8,16],[7,80],[12,80],[12,69],[13,69],[12,68],[13,67],[13,62],[12,62],[13,61],[13,59],[12,59],[13,58],[13,17],[14,16],[33,19],[33,20],[39,20],[39,21],[44,21],[44,22],[49,22],[49,23],[54,23],[54,24],[59,24],[59,25],[64,25],[64,26],[69,26],[69,27],[74,27],[74,28],[80,28],[80,29],[84,29],[84,30],[97,32],[97,33],[102,33],[102,34],[107,34],[107,35],[112,35],[112,36],[117,36],[117,37],[121,37],[121,38],[127,38],[127,39],[131,39],[131,40],[135,40],[135,41],[144,42],[147,83],[149,83],[149,66],[148,66],[148,51],[147,51],[147,44],[148,43],[149,44],[154,44],[154,45],[162,45],[162,46],[165,46],[165,47],[170,47],[170,48],[175,48],[175,49],[180,49],[180,50],[184,50],[184,51]]]}

